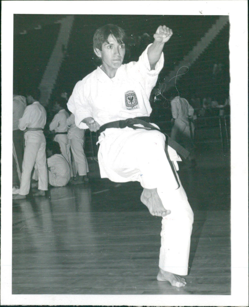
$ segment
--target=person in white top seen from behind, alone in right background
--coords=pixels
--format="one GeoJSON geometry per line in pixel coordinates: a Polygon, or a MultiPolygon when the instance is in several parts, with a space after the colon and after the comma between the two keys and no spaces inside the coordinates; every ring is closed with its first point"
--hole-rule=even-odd
{"type": "Polygon", "coordinates": [[[187,99],[176,96],[171,99],[171,113],[172,113],[172,129],[171,138],[190,151],[188,161],[190,167],[194,167],[195,153],[194,153],[194,109],[189,104],[187,99]],[[191,126],[191,128],[190,128],[191,126]]]}

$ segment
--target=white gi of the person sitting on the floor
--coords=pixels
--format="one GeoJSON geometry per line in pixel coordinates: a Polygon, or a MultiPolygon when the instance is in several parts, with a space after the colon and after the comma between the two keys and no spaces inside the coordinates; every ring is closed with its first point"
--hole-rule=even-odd
{"type": "Polygon", "coordinates": [[[71,170],[68,161],[62,154],[54,154],[47,159],[49,167],[49,184],[54,187],[63,187],[71,178],[71,170]]]}

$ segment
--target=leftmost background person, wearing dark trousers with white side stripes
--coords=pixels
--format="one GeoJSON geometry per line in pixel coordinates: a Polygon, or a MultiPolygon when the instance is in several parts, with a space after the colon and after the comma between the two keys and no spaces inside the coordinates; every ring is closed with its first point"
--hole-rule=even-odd
{"type": "Polygon", "coordinates": [[[19,129],[18,125],[26,106],[27,102],[24,96],[13,94],[12,194],[19,193],[21,184],[24,133],[19,129]]]}

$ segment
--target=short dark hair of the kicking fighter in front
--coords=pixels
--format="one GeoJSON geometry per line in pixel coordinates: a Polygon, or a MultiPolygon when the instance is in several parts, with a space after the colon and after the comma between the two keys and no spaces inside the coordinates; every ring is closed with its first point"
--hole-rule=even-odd
{"type": "Polygon", "coordinates": [[[108,42],[108,36],[112,34],[119,44],[125,44],[127,41],[127,37],[125,34],[125,30],[120,28],[119,26],[108,24],[98,28],[93,36],[93,50],[96,48],[101,50],[102,44],[104,42],[108,42]]]}

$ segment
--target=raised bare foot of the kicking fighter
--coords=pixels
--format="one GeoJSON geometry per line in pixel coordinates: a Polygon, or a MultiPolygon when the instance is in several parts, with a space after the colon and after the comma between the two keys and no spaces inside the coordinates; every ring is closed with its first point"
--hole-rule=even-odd
{"type": "Polygon", "coordinates": [[[164,208],[157,189],[143,189],[140,200],[147,206],[151,215],[166,216],[171,213],[164,208]]]}

